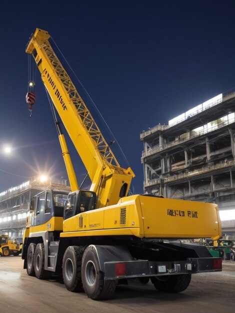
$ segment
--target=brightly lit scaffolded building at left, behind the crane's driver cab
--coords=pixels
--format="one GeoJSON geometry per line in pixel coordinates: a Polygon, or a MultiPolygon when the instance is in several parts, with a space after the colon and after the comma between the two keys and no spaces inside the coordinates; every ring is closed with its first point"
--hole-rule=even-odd
{"type": "Polygon", "coordinates": [[[42,190],[70,191],[65,179],[40,181],[36,177],[0,192],[0,234],[22,240],[30,199],[42,190]]]}

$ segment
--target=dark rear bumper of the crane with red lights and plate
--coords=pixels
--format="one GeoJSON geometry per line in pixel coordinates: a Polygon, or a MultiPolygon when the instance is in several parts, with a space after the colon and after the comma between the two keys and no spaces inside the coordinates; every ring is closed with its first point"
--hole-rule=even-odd
{"type": "Polygon", "coordinates": [[[104,279],[200,273],[222,270],[220,257],[187,258],[186,261],[131,260],[104,262],[104,279]]]}

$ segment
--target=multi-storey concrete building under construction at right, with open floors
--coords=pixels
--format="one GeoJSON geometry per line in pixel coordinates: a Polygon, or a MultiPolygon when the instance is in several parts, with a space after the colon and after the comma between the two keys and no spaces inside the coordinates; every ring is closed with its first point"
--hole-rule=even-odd
{"type": "MultiPolygon", "coordinates": [[[[144,191],[235,208],[235,92],[143,131],[144,191]]],[[[235,234],[235,220],[222,223],[235,234]]]]}

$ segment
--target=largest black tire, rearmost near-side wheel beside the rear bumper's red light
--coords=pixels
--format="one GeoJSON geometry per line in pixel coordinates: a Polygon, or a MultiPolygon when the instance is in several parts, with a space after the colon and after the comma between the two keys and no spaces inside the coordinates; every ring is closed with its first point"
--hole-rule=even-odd
{"type": "Polygon", "coordinates": [[[110,298],[116,289],[116,280],[104,280],[94,246],[88,246],[82,257],[81,279],[86,295],[93,300],[110,298]]]}

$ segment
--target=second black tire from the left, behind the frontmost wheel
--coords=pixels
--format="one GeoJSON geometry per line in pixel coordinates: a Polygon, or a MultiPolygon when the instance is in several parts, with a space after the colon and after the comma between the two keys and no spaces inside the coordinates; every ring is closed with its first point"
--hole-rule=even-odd
{"type": "Polygon", "coordinates": [[[51,272],[44,269],[45,261],[44,244],[37,243],[35,248],[35,255],[33,261],[33,267],[35,271],[35,276],[38,279],[48,279],[51,276],[51,272]]]}

